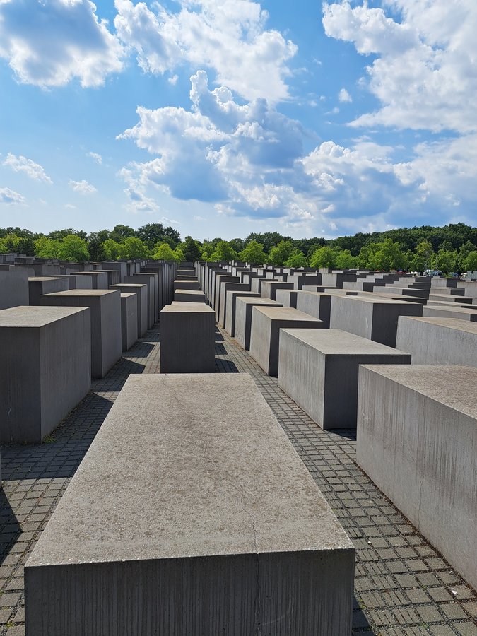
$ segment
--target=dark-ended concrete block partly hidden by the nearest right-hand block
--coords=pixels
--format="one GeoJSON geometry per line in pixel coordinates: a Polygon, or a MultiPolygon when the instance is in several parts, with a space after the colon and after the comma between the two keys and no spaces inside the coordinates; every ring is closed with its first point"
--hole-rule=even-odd
{"type": "Polygon", "coordinates": [[[356,428],[359,365],[411,355],[340,329],[281,329],[278,385],[324,429],[356,428]]]}

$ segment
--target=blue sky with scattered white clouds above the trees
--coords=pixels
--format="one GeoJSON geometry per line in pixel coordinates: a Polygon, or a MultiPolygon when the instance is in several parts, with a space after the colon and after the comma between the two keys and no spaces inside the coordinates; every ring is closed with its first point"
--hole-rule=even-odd
{"type": "Polygon", "coordinates": [[[477,225],[476,0],[0,0],[0,227],[477,225]]]}

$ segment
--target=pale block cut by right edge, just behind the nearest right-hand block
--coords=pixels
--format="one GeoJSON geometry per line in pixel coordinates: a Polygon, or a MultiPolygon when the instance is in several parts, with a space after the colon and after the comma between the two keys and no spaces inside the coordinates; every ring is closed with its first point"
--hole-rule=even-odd
{"type": "Polygon", "coordinates": [[[413,356],[413,365],[477,367],[477,323],[458,318],[399,318],[396,348],[413,356]]]}

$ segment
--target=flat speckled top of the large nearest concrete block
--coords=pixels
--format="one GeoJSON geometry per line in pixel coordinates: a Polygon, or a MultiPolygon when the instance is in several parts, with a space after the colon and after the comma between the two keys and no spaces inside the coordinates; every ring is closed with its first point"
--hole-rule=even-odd
{"type": "Polygon", "coordinates": [[[131,375],[26,567],[302,550],[353,546],[252,378],[131,375]]]}

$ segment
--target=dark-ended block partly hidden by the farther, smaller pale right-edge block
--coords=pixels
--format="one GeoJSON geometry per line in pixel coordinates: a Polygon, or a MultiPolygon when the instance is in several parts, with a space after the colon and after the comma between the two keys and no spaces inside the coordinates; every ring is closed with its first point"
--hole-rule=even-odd
{"type": "MultiPolygon", "coordinates": [[[[398,318],[421,316],[422,312],[422,305],[415,302],[336,294],[331,302],[329,326],[394,347],[398,318]]],[[[401,349],[400,346],[397,348],[401,349]]]]}

